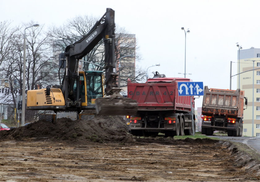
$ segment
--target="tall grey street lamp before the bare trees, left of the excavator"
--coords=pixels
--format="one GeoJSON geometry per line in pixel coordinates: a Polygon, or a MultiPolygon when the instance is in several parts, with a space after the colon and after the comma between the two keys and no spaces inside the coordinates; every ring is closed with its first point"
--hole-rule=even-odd
{"type": "Polygon", "coordinates": [[[32,26],[29,26],[29,27],[26,27],[24,29],[24,65],[23,65],[23,98],[22,98],[22,101],[23,101],[23,104],[22,104],[22,126],[24,126],[24,119],[25,119],[25,70],[26,70],[26,62],[25,62],[25,42],[26,42],[26,35],[25,35],[25,30],[27,28],[30,28],[30,27],[38,27],[39,24],[34,24],[32,26]]]}

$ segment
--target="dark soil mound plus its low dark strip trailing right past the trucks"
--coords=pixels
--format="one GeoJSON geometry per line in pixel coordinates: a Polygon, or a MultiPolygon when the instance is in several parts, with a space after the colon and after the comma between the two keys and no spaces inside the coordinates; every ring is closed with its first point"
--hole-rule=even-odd
{"type": "Polygon", "coordinates": [[[171,137],[134,137],[128,133],[128,126],[122,116],[96,115],[94,111],[83,111],[81,118],[72,121],[67,118],[57,119],[53,123],[43,120],[24,127],[1,131],[3,140],[54,140],[70,144],[86,144],[89,142],[119,142],[119,143],[159,143],[178,144],[213,144],[216,140],[191,139],[175,140],[171,137]]]}

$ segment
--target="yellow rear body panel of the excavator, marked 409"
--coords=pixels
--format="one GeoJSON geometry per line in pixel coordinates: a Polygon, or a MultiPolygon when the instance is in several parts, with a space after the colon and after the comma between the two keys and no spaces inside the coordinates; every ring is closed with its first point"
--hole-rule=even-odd
{"type": "Polygon", "coordinates": [[[28,90],[27,107],[30,106],[65,106],[65,100],[61,89],[58,88],[51,88],[49,96],[46,94],[46,88],[28,90]]]}

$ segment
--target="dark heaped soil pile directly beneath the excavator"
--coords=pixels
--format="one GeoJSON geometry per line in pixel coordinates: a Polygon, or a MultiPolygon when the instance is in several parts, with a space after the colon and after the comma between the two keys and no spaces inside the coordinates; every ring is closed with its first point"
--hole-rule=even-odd
{"type": "MultiPolygon", "coordinates": [[[[87,113],[89,114],[89,113],[87,113]]],[[[2,139],[27,141],[32,138],[65,140],[68,142],[85,143],[132,140],[127,133],[126,121],[121,116],[83,115],[81,119],[57,119],[54,123],[37,121],[24,127],[0,133],[2,139]]]]}

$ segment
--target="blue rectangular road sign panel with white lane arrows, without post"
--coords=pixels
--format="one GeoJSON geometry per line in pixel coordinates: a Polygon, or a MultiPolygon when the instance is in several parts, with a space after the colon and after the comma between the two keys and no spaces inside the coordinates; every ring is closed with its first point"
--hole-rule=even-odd
{"type": "Polygon", "coordinates": [[[179,96],[204,95],[203,82],[178,82],[179,96]]]}

